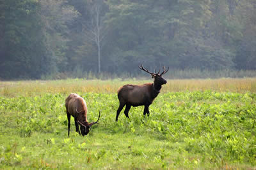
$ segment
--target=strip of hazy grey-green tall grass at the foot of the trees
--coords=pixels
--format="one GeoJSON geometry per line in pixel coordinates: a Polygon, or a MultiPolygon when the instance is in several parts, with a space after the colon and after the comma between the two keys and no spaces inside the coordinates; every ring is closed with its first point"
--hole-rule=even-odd
{"type": "MultiPolygon", "coordinates": [[[[68,78],[84,78],[86,80],[109,80],[115,78],[140,78],[145,75],[141,71],[131,71],[124,73],[93,73],[91,71],[86,72],[82,69],[74,69],[72,72],[65,73],[52,73],[42,76],[42,80],[61,80],[68,78]]],[[[200,70],[200,69],[170,69],[168,73],[164,75],[168,79],[191,79],[191,78],[252,78],[256,77],[256,71],[254,70],[231,70],[224,69],[218,71],[200,70]]]]}

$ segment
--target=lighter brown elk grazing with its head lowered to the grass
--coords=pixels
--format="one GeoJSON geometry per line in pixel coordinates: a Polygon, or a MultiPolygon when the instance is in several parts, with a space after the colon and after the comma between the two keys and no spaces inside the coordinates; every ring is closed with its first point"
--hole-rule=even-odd
{"type": "Polygon", "coordinates": [[[76,132],[79,132],[78,124],[80,125],[81,134],[84,136],[88,134],[89,129],[91,129],[92,125],[97,124],[100,118],[100,111],[99,111],[99,118],[96,122],[88,123],[87,121],[87,106],[86,102],[82,97],[78,94],[70,94],[67,99],[65,100],[65,106],[67,110],[67,117],[68,117],[68,136],[70,131],[70,117],[74,117],[75,125],[76,125],[76,132]]]}

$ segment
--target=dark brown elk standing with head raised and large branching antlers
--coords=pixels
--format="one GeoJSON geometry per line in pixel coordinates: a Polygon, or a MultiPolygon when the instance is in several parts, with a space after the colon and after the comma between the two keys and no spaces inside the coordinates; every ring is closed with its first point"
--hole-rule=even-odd
{"type": "Polygon", "coordinates": [[[118,116],[120,114],[120,111],[125,107],[124,114],[127,118],[129,118],[128,112],[131,108],[131,106],[145,106],[143,115],[145,116],[146,113],[149,116],[149,110],[148,107],[150,104],[153,103],[154,99],[159,94],[162,85],[166,84],[167,81],[164,80],[162,77],[163,74],[167,73],[168,69],[166,70],[163,66],[163,72],[159,74],[160,69],[158,73],[151,73],[148,71],[148,69],[144,68],[142,64],[140,64],[140,69],[143,71],[146,71],[147,73],[151,74],[152,78],[154,78],[154,83],[146,83],[144,85],[124,85],[123,87],[120,87],[118,89],[118,100],[119,100],[119,108],[116,111],[116,121],[118,121],[118,116]]]}

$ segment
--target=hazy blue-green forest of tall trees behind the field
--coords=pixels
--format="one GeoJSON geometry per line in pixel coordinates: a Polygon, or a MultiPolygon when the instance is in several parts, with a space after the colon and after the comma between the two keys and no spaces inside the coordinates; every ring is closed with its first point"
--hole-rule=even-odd
{"type": "Polygon", "coordinates": [[[256,69],[254,0],[0,0],[0,79],[256,69]]]}

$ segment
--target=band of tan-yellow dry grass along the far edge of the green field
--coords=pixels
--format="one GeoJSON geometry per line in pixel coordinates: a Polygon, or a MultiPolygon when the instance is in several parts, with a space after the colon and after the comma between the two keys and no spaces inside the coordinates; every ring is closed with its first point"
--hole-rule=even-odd
{"type": "MultiPolygon", "coordinates": [[[[103,92],[116,93],[125,84],[141,85],[148,80],[51,80],[51,81],[0,81],[0,96],[35,96],[45,92],[103,92]]],[[[220,78],[168,80],[161,92],[180,92],[193,90],[214,90],[219,92],[256,92],[256,78],[220,78]]]]}

